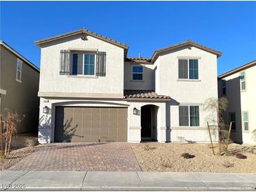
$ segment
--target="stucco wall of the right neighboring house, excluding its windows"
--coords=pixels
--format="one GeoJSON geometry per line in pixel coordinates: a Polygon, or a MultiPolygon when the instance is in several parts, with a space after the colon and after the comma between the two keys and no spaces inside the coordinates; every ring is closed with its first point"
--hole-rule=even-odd
{"type": "MultiPolygon", "coordinates": [[[[256,144],[256,66],[250,67],[245,71],[246,89],[241,91],[240,88],[240,73],[231,74],[225,78],[227,94],[226,98],[229,102],[227,111],[224,114],[224,120],[229,124],[229,113],[236,112],[236,131],[231,132],[231,139],[234,142],[245,144],[256,144]],[[242,113],[248,111],[249,131],[245,132],[242,127],[242,113]]],[[[219,94],[221,86],[219,81],[219,94]]]]}

